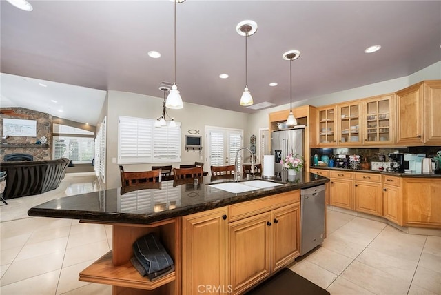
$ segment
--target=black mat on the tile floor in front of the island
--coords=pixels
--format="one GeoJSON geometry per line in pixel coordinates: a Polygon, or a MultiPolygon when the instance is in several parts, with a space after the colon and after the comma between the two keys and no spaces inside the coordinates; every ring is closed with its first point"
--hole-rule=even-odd
{"type": "Polygon", "coordinates": [[[263,281],[247,295],[329,295],[322,287],[284,268],[277,274],[263,281]]]}

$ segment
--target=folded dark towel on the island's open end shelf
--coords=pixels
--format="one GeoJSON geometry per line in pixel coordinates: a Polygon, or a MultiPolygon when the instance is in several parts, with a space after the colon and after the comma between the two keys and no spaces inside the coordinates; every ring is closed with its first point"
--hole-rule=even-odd
{"type": "MultiPolygon", "coordinates": [[[[134,258],[136,258],[143,269],[145,269],[147,275],[159,273],[169,267],[169,269],[166,270],[167,272],[172,265],[174,267],[172,258],[167,253],[155,233],[147,234],[136,240],[133,243],[133,254],[134,258]]],[[[134,265],[134,267],[136,269],[139,268],[136,267],[136,265],[134,265]]],[[[143,273],[139,273],[143,275],[143,273]]]]}

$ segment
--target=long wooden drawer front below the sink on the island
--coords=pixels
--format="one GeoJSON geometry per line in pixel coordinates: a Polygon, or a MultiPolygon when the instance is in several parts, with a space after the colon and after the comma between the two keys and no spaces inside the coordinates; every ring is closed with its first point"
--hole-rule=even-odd
{"type": "Polygon", "coordinates": [[[264,198],[246,201],[228,206],[229,222],[238,221],[242,218],[268,212],[290,203],[300,202],[300,190],[265,196],[264,198]]]}

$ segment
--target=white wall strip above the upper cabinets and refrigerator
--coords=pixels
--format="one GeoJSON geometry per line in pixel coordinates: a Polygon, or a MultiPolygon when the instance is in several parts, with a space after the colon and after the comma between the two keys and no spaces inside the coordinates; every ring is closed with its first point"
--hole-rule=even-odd
{"type": "MultiPolygon", "coordinates": [[[[415,72],[407,77],[401,77],[388,81],[382,81],[371,85],[365,85],[358,88],[352,88],[340,92],[334,92],[317,96],[311,99],[305,99],[303,101],[293,101],[292,106],[296,108],[301,105],[314,105],[316,107],[320,105],[330,105],[333,103],[340,103],[342,101],[352,101],[354,99],[363,99],[370,96],[376,96],[381,94],[387,94],[396,92],[403,88],[407,88],[410,85],[418,83],[423,80],[436,80],[441,79],[441,61],[429,65],[418,72],[415,72]]],[[[286,105],[280,105],[278,107],[269,108],[249,115],[248,126],[245,129],[245,138],[249,139],[249,136],[256,134],[258,136],[259,128],[268,127],[268,116],[271,112],[277,112],[280,110],[289,110],[289,103],[286,105]]],[[[249,143],[244,141],[245,146],[249,143]]]]}

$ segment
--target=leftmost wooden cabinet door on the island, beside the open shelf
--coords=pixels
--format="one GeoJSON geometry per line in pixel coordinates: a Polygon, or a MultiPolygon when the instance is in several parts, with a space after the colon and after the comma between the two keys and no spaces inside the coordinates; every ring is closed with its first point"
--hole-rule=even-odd
{"type": "Polygon", "coordinates": [[[228,293],[227,207],[184,216],[182,227],[182,294],[228,293]]]}

